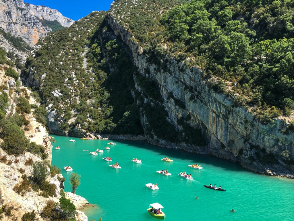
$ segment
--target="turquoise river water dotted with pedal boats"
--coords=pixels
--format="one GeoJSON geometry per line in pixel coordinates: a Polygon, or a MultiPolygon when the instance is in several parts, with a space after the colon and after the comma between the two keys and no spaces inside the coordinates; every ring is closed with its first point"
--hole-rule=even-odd
{"type": "Polygon", "coordinates": [[[69,142],[70,137],[54,136],[60,150],[52,150],[52,165],[61,168],[66,178],[65,191],[71,191],[70,165],[81,175],[76,194],[97,207],[83,210],[90,219],[103,221],[157,220],[146,212],[148,205],[163,205],[165,220],[293,220],[294,180],[269,177],[243,169],[238,164],[213,156],[165,149],[146,142],[113,141],[115,146],[104,150],[109,140],[81,140],[69,142]],[[97,156],[88,154],[103,149],[97,156]],[[83,151],[87,149],[88,151],[83,151]],[[102,157],[112,157],[107,162],[102,157]],[[174,161],[160,159],[168,156],[174,161]],[[142,164],[131,161],[140,158],[142,164]],[[118,162],[121,169],[108,166],[118,162]],[[188,167],[198,163],[203,170],[188,167]],[[171,176],[156,173],[168,169],[171,176]],[[181,171],[192,174],[193,180],[178,176],[181,171]],[[148,189],[145,184],[157,183],[159,189],[148,189]],[[203,187],[221,185],[226,192],[203,187]],[[195,199],[196,195],[199,199],[195,199]],[[234,208],[236,212],[230,212],[234,208]]]}

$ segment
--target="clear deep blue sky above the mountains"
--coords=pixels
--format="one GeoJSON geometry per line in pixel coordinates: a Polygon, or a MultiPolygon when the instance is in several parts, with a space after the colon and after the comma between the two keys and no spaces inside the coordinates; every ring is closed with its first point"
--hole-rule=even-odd
{"type": "Polygon", "coordinates": [[[34,5],[45,5],[57,9],[65,17],[78,20],[92,11],[108,11],[113,0],[24,0],[34,5]]]}

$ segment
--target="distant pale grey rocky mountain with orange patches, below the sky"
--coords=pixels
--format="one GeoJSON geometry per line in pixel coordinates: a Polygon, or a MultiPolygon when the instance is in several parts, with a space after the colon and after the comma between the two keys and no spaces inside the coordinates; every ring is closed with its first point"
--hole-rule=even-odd
{"type": "Polygon", "coordinates": [[[38,19],[57,20],[64,27],[74,22],[55,9],[27,4],[23,0],[1,0],[0,7],[0,27],[5,32],[22,37],[31,46],[52,30],[43,26],[38,19]]]}

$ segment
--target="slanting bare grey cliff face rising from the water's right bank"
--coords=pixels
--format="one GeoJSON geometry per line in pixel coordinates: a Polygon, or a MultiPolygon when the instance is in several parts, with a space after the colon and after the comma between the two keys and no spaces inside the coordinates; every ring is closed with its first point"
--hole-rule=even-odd
{"type": "MultiPolygon", "coordinates": [[[[131,49],[133,62],[140,74],[149,75],[156,81],[163,98],[163,105],[168,112],[168,121],[180,131],[181,125],[178,124],[178,120],[181,117],[188,119],[186,122],[190,126],[201,128],[207,145],[197,146],[183,142],[172,144],[157,139],[156,136],[148,138],[150,143],[212,154],[232,161],[240,161],[243,167],[256,172],[294,178],[293,168],[289,171],[282,161],[271,162],[272,165],[269,166],[266,162],[261,164],[255,155],[263,152],[261,154],[271,153],[279,156],[282,151],[288,150],[290,158],[294,159],[293,133],[281,133],[282,121],[275,120],[272,127],[255,121],[254,116],[245,108],[233,107],[229,98],[208,88],[202,81],[202,72],[195,67],[187,69],[182,63],[170,58],[164,69],[155,64],[148,64],[142,54],[142,48],[134,43],[132,34],[116,23],[111,14],[108,15],[107,22],[116,36],[131,49]],[[146,70],[148,70],[147,74],[146,70]],[[169,98],[171,93],[174,98],[184,103],[184,109],[169,98]]],[[[138,84],[136,88],[141,93],[138,84]]],[[[144,99],[148,100],[148,98],[144,99]]],[[[144,130],[148,131],[148,122],[144,114],[141,116],[141,123],[144,130]]]]}

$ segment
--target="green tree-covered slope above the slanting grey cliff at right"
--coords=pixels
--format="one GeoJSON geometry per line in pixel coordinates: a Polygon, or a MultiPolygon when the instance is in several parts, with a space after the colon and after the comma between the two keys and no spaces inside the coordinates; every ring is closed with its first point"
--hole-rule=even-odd
{"type": "Polygon", "coordinates": [[[201,68],[209,86],[233,95],[235,106],[247,106],[266,124],[294,109],[293,5],[138,0],[131,9],[120,1],[111,14],[132,32],[151,63],[162,64],[168,54],[201,68]]]}

